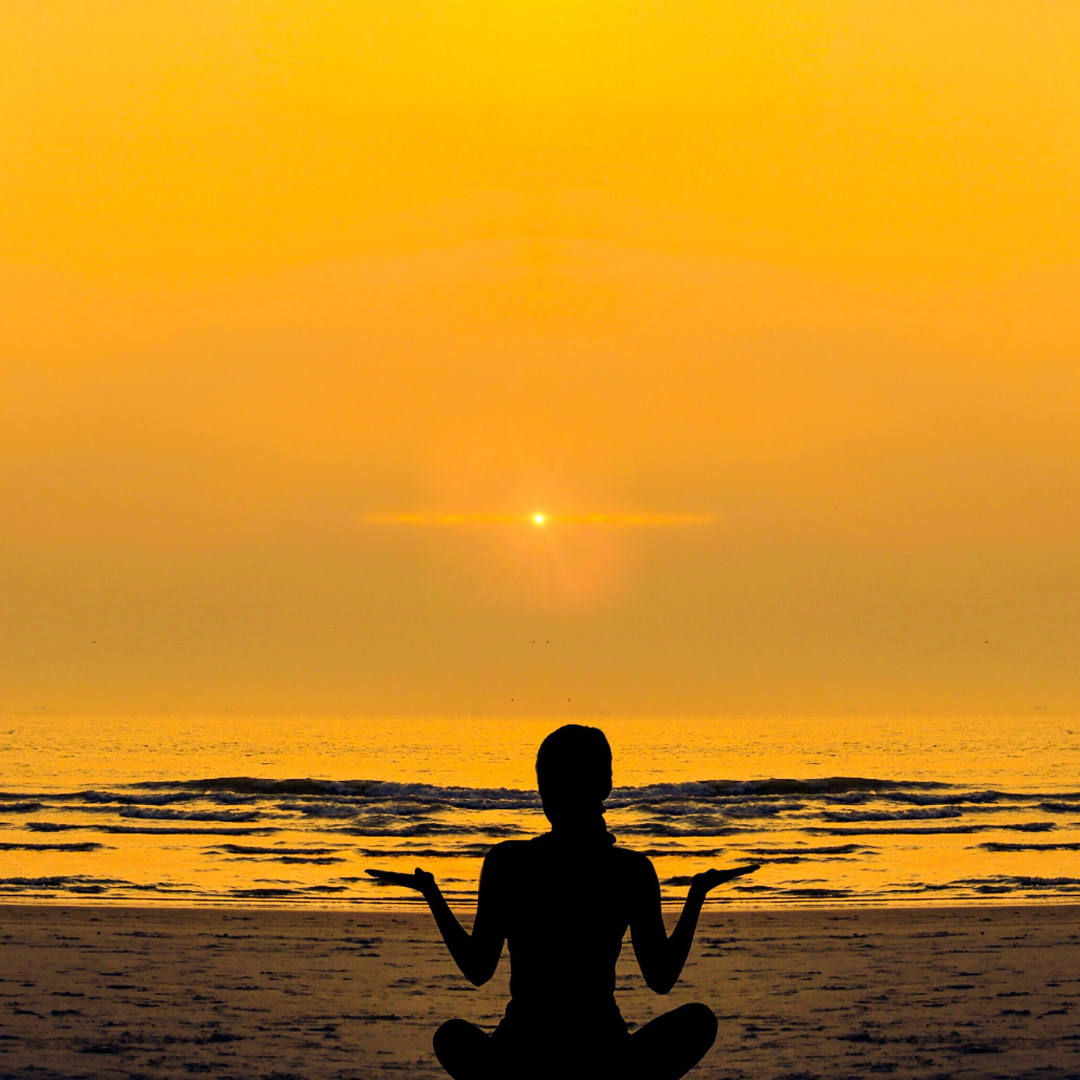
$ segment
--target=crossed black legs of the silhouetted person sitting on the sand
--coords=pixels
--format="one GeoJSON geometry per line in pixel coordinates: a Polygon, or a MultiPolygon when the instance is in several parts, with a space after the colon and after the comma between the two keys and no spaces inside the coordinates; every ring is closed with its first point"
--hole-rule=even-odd
{"type": "MultiPolygon", "coordinates": [[[[606,1054],[602,1048],[564,1044],[555,1067],[566,1080],[579,1074],[589,1080],[605,1075],[613,1080],[679,1080],[705,1056],[715,1039],[716,1017],[707,1005],[680,1005],[649,1021],[606,1054]]],[[[510,1068],[495,1040],[468,1021],[447,1021],[432,1042],[435,1056],[454,1080],[512,1080],[503,1074],[521,1077],[529,1066],[549,1075],[551,1065],[542,1059],[550,1056],[557,1039],[553,1032],[543,1047],[516,1048],[514,1056],[521,1056],[524,1070],[522,1062],[510,1068]]]]}

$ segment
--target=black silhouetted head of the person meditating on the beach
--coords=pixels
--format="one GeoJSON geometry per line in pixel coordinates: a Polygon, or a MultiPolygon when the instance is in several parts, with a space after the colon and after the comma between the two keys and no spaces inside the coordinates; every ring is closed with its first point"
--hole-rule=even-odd
{"type": "Polygon", "coordinates": [[[611,747],[599,728],[567,724],[540,744],[537,786],[556,828],[573,828],[604,813],[611,794],[611,747]]]}

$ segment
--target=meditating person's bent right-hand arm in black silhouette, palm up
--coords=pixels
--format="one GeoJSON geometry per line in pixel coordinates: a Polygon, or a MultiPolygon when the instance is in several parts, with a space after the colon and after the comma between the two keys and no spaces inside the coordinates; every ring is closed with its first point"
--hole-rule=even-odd
{"type": "Polygon", "coordinates": [[[683,913],[669,936],[660,907],[657,872],[648,859],[642,861],[634,886],[630,934],[634,955],[650,990],[667,994],[678,982],[690,955],[698,917],[708,893],[718,885],[756,869],[757,866],[740,866],[731,870],[713,869],[696,874],[690,881],[683,913]]]}

